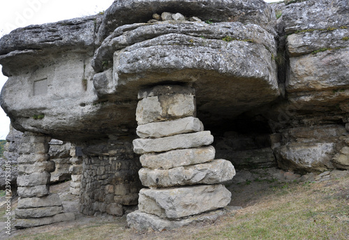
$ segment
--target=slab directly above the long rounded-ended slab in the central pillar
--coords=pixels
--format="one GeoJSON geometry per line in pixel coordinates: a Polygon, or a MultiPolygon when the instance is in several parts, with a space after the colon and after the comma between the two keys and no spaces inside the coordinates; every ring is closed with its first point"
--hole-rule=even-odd
{"type": "Polygon", "coordinates": [[[143,167],[150,169],[161,168],[168,170],[173,167],[207,163],[214,160],[216,150],[214,147],[200,147],[197,149],[178,149],[165,153],[146,153],[140,156],[143,167]]]}

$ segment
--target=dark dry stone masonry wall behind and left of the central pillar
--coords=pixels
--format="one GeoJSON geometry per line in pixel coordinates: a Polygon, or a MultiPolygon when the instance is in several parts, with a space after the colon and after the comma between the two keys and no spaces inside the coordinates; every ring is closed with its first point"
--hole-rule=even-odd
{"type": "Polygon", "coordinates": [[[138,204],[140,163],[131,140],[119,137],[84,148],[80,212],[122,216],[138,204]]]}

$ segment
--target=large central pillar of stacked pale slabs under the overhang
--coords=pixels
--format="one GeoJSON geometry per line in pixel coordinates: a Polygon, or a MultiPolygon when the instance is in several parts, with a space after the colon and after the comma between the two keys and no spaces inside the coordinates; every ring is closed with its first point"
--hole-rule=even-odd
{"type": "Polygon", "coordinates": [[[212,219],[230,203],[223,186],[235,176],[227,160],[214,160],[209,146],[214,137],[195,118],[195,90],[177,85],[157,86],[138,94],[136,110],[139,139],[135,153],[142,154],[139,171],[138,211],[128,214],[130,227],[170,230],[195,221],[212,219]]]}

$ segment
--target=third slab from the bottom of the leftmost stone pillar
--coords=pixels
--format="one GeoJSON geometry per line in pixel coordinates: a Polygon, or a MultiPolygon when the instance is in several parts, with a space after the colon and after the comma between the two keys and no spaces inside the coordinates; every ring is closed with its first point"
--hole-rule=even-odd
{"type": "Polygon", "coordinates": [[[30,209],[36,207],[61,206],[62,202],[58,194],[50,194],[44,197],[20,197],[18,199],[18,209],[30,209]]]}

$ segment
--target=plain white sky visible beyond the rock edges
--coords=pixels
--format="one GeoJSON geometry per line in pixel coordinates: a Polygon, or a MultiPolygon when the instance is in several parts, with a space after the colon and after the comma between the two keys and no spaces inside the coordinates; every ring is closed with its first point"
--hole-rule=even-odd
{"type": "MultiPolygon", "coordinates": [[[[0,37],[18,27],[94,15],[112,5],[114,0],[15,0],[0,1],[0,37]]],[[[266,0],[273,2],[276,0],[266,0]]],[[[0,66],[1,70],[1,66],[0,66]]],[[[7,77],[0,71],[0,89],[7,77]]],[[[10,119],[0,107],[0,140],[10,128],[10,119]]]]}

